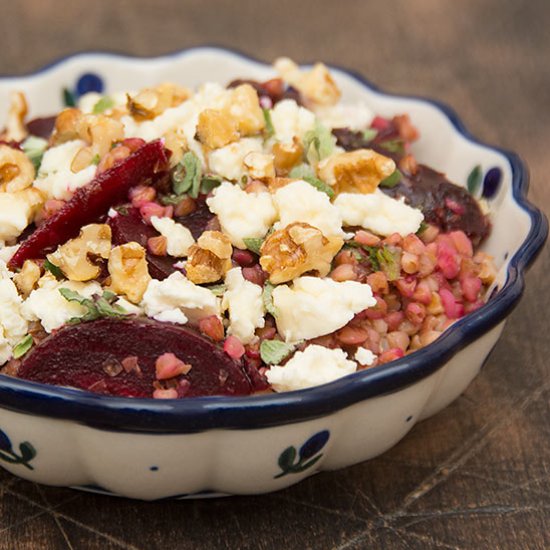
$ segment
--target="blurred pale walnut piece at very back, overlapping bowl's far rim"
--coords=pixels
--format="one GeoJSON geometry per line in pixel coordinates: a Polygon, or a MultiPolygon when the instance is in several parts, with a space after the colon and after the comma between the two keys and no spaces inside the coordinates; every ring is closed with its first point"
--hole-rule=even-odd
{"type": "Polygon", "coordinates": [[[338,103],[342,93],[323,63],[316,63],[309,71],[302,71],[294,61],[281,57],[274,66],[283,80],[298,89],[308,101],[317,105],[338,103]]]}

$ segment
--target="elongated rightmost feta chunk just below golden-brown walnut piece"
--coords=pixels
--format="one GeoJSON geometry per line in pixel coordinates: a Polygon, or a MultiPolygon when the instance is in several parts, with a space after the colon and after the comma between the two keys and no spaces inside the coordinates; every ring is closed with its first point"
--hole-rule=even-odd
{"type": "Polygon", "coordinates": [[[334,206],[340,211],[344,225],[360,225],[378,235],[416,233],[424,216],[404,199],[389,197],[379,189],[374,193],[340,193],[334,206]]]}

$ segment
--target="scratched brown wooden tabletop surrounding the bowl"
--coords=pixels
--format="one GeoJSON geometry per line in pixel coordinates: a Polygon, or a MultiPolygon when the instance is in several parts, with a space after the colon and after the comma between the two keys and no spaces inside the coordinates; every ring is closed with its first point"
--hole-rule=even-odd
{"type": "MultiPolygon", "coordinates": [[[[529,164],[550,210],[545,0],[0,2],[0,73],[63,55],[216,43],[362,72],[452,105],[529,164]]],[[[0,549],[550,547],[548,248],[481,375],[385,455],[277,494],[154,504],[0,472],[0,549]]]]}

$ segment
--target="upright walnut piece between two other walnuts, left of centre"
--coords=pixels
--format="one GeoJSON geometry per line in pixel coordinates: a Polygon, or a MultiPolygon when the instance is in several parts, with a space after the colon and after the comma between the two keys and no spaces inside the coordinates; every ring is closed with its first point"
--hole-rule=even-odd
{"type": "Polygon", "coordinates": [[[145,249],[136,242],[115,246],[109,256],[110,289],[134,304],[141,302],[151,276],[145,249]]]}

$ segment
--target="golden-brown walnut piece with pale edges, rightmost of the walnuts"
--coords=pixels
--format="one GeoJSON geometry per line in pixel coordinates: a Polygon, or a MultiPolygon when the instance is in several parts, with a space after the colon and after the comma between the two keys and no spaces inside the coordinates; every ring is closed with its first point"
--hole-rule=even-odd
{"type": "Polygon", "coordinates": [[[372,149],[337,153],[321,161],[318,176],[336,193],[373,193],[395,171],[395,162],[372,149]]]}

